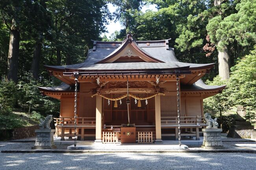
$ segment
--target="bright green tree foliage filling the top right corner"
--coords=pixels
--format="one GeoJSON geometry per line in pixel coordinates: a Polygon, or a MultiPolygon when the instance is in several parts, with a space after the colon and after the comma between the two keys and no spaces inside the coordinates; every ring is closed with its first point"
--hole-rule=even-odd
{"type": "Polygon", "coordinates": [[[206,27],[211,42],[218,44],[219,50],[235,41],[241,46],[256,43],[256,0],[241,0],[236,5],[236,10],[237,13],[224,18],[221,15],[215,16],[206,27]]]}

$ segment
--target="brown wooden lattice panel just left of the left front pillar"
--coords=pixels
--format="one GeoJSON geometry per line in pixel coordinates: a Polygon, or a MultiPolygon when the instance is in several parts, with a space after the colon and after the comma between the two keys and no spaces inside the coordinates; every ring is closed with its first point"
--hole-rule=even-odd
{"type": "Polygon", "coordinates": [[[84,97],[83,117],[96,117],[96,97],[84,97]]]}

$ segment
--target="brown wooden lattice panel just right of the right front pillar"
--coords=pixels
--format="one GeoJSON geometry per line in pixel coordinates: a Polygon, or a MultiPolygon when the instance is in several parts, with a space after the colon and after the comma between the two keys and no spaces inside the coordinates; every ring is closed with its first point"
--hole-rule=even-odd
{"type": "Polygon", "coordinates": [[[177,116],[177,98],[176,96],[161,96],[161,120],[170,120],[170,118],[162,117],[176,117],[177,116]]]}

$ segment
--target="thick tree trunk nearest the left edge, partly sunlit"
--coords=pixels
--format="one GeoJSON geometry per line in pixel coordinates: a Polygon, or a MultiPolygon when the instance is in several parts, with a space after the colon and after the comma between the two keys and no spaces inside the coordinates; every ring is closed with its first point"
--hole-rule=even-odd
{"type": "Polygon", "coordinates": [[[9,52],[7,60],[7,79],[18,82],[18,68],[19,68],[19,46],[20,33],[18,27],[15,26],[15,20],[12,20],[10,30],[9,52]]]}

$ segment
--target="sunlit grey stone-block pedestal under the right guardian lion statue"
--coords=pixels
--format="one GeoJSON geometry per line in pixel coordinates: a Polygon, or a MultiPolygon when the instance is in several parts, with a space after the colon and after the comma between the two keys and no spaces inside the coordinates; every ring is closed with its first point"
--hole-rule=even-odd
{"type": "Polygon", "coordinates": [[[222,129],[218,128],[208,128],[202,129],[204,132],[204,141],[202,148],[223,148],[221,141],[222,129]]]}

